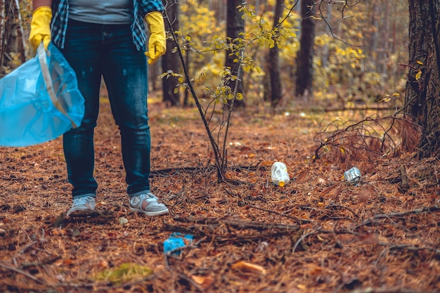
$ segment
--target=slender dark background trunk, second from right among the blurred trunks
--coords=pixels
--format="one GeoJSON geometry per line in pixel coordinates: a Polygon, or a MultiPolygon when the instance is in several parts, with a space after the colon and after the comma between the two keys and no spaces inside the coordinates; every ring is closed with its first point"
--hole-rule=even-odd
{"type": "MultiPolygon", "coordinates": [[[[273,27],[278,30],[280,18],[283,13],[284,0],[277,0],[275,6],[275,13],[273,14],[273,27]]],[[[274,37],[276,39],[277,36],[274,37]]],[[[276,40],[275,40],[276,41],[276,40]]],[[[281,77],[280,77],[280,64],[279,64],[279,48],[275,44],[273,48],[269,49],[268,53],[268,74],[271,81],[271,106],[275,107],[280,102],[282,95],[281,77]]]]}

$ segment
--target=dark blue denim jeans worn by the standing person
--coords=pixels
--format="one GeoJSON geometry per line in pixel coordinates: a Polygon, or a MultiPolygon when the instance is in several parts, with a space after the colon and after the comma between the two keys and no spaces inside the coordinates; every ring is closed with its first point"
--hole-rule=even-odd
{"type": "Polygon", "coordinates": [[[99,112],[101,77],[115,123],[119,126],[127,193],[150,190],[150,126],[148,126],[147,60],[136,50],[130,25],[98,25],[69,20],[63,55],[75,70],[85,99],[85,115],[77,129],[63,135],[67,178],[72,197],[96,196],[93,178],[93,131],[99,112]]]}

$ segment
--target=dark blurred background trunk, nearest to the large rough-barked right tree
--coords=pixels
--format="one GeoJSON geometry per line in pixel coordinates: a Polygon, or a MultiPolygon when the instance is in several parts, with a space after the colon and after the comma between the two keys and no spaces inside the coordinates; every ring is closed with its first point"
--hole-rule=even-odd
{"type": "Polygon", "coordinates": [[[313,42],[315,39],[315,21],[312,18],[313,0],[301,0],[301,40],[297,56],[297,82],[295,93],[306,96],[312,91],[313,80],[313,42]]]}

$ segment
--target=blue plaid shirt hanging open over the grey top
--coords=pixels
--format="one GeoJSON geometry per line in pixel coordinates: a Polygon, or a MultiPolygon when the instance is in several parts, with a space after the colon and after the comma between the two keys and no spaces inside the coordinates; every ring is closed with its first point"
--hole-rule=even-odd
{"type": "MultiPolygon", "coordinates": [[[[67,0],[53,1],[53,18],[51,23],[52,41],[60,48],[64,48],[67,20],[69,19],[69,3],[67,0]]],[[[138,50],[143,49],[147,36],[143,19],[145,15],[153,11],[164,11],[160,0],[133,0],[133,18],[131,22],[131,34],[133,42],[138,50]]]]}

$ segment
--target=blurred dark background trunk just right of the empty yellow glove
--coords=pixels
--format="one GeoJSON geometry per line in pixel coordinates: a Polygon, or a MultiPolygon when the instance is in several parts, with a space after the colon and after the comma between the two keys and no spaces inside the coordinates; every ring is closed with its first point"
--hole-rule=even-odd
{"type": "MultiPolygon", "coordinates": [[[[162,0],[163,1],[163,0],[162,0]]],[[[167,1],[163,1],[164,4],[167,1]]],[[[178,1],[173,1],[167,6],[167,16],[169,22],[171,22],[172,27],[169,27],[169,23],[165,20],[165,30],[179,30],[179,5],[178,1]]],[[[175,44],[172,39],[167,39],[167,52],[162,56],[162,72],[167,72],[172,70],[172,72],[180,71],[180,59],[179,55],[173,53],[172,49],[175,44]]],[[[163,101],[169,106],[180,105],[180,94],[179,88],[176,90],[176,85],[178,82],[174,77],[163,78],[162,79],[162,91],[163,91],[163,101]]]]}

